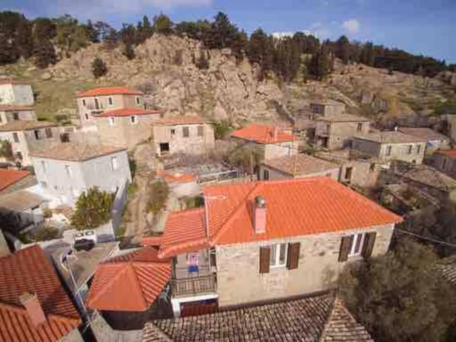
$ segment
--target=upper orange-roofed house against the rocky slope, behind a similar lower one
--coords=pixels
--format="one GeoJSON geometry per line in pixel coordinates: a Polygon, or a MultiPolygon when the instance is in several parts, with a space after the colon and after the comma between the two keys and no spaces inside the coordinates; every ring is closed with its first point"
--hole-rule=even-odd
{"type": "Polygon", "coordinates": [[[128,87],[102,87],[76,94],[83,128],[94,127],[94,115],[121,108],[144,108],[143,93],[128,87]]]}

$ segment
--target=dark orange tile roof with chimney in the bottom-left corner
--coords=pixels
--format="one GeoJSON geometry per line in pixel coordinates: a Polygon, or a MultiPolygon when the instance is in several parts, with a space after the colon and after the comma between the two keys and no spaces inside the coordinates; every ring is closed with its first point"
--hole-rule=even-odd
{"type": "Polygon", "coordinates": [[[0,340],[56,341],[81,318],[39,245],[0,258],[0,340]],[[19,296],[34,292],[47,322],[36,327],[19,296]]]}

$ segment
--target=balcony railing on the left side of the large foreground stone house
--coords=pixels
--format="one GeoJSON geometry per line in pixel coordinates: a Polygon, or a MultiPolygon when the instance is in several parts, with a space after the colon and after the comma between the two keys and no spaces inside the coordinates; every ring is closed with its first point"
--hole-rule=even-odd
{"type": "Polygon", "coordinates": [[[215,273],[171,280],[171,293],[175,297],[215,292],[216,288],[217,278],[215,273]]]}

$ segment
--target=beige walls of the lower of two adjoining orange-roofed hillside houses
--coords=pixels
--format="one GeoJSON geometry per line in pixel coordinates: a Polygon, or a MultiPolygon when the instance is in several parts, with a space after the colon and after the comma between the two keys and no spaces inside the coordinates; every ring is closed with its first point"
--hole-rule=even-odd
{"type": "Polygon", "coordinates": [[[95,122],[102,144],[132,149],[151,138],[151,125],[159,117],[159,114],[136,115],[135,124],[131,123],[130,116],[115,117],[113,126],[109,124],[110,118],[97,118],[95,122]]]}

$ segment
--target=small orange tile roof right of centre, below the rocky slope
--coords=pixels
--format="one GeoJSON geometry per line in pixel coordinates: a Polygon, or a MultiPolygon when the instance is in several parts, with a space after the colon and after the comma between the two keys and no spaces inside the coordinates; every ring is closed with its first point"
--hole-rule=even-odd
{"type": "Polygon", "coordinates": [[[284,133],[280,129],[278,129],[277,137],[274,138],[274,127],[259,124],[250,124],[237,131],[231,132],[231,136],[244,140],[255,141],[260,144],[282,143],[297,139],[297,137],[284,133]]]}

